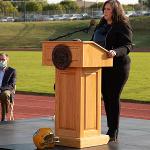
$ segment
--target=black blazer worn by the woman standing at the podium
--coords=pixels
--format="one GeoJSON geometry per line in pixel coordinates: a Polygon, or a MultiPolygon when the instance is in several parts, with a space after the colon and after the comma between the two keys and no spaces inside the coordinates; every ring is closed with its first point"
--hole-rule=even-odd
{"type": "MultiPolygon", "coordinates": [[[[98,24],[96,29],[103,25],[104,24],[98,24]]],[[[113,66],[121,66],[130,63],[130,58],[128,56],[128,53],[132,50],[132,29],[130,25],[121,22],[113,24],[106,35],[105,48],[107,50],[116,51],[113,66]]]]}

